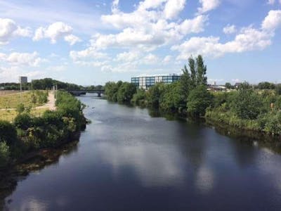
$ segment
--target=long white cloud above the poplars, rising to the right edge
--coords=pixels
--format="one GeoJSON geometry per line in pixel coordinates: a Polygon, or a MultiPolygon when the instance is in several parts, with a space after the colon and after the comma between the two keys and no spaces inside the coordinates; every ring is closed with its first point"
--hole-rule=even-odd
{"type": "Polygon", "coordinates": [[[270,46],[274,31],[281,25],[280,11],[270,11],[263,20],[261,29],[245,27],[240,30],[233,41],[221,43],[219,37],[192,37],[183,44],[172,46],[179,51],[179,60],[186,60],[190,55],[218,57],[225,53],[240,53],[244,51],[263,50],[270,46]]]}

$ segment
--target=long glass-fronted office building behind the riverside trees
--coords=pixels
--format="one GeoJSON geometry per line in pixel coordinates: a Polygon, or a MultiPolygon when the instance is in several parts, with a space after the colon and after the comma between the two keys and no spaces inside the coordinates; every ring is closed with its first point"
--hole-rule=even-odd
{"type": "Polygon", "coordinates": [[[180,79],[180,75],[169,74],[169,75],[156,75],[156,76],[143,76],[143,77],[132,77],[131,83],[135,84],[138,88],[148,89],[156,83],[163,82],[164,84],[171,84],[180,79]]]}

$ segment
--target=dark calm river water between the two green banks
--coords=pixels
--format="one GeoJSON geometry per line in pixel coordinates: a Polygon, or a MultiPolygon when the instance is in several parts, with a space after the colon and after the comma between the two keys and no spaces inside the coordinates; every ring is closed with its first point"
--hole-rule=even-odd
{"type": "Polygon", "coordinates": [[[9,210],[281,210],[281,156],[184,120],[81,97],[75,151],[19,181],[9,210]],[[95,107],[95,108],[93,108],[95,107]]]}

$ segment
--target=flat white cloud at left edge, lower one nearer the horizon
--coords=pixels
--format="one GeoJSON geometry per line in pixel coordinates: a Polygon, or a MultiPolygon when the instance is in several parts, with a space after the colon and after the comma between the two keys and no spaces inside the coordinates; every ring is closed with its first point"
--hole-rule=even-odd
{"type": "Polygon", "coordinates": [[[25,65],[30,67],[38,67],[40,63],[46,61],[45,59],[40,58],[36,51],[33,53],[13,52],[8,55],[1,53],[0,60],[4,60],[11,65],[25,65]]]}

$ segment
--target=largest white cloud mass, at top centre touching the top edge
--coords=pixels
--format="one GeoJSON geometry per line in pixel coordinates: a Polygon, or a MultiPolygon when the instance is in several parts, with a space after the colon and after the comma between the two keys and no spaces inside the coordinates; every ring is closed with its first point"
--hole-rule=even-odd
{"type": "Polygon", "coordinates": [[[145,0],[131,13],[119,11],[116,2],[114,5],[112,14],[102,15],[101,20],[122,31],[117,34],[97,34],[92,40],[97,49],[110,46],[151,51],[181,40],[187,34],[202,32],[207,21],[207,16],[197,15],[192,19],[171,22],[183,11],[185,0],[145,0]]]}

